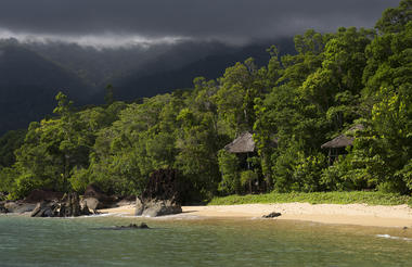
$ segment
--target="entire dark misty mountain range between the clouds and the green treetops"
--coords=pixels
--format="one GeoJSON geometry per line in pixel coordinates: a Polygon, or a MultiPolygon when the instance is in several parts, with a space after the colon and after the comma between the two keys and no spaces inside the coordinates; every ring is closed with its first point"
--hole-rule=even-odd
{"type": "MultiPolygon", "coordinates": [[[[293,50],[291,40],[279,40],[285,52],[293,50]]],[[[250,55],[265,64],[267,47],[269,42],[237,48],[219,42],[184,42],[172,47],[96,49],[2,40],[0,135],[51,114],[59,91],[69,96],[76,105],[101,104],[104,88],[113,84],[115,99],[133,101],[189,88],[195,76],[216,78],[226,66],[250,55]]]]}

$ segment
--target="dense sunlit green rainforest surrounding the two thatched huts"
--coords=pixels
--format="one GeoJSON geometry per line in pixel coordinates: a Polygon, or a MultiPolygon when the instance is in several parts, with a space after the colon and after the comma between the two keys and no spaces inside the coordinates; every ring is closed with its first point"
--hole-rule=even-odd
{"type": "Polygon", "coordinates": [[[412,191],[412,0],[388,9],[375,29],[308,30],[295,54],[268,49],[197,77],[192,89],[132,103],[75,109],[56,96],[55,116],[0,139],[0,192],[37,188],[139,194],[151,173],[179,171],[192,201],[249,192],[412,191]],[[355,127],[353,127],[355,126],[355,127]],[[361,127],[360,127],[361,126],[361,127]],[[255,152],[223,149],[244,132],[255,152]],[[321,145],[352,138],[337,157],[321,145]]]}

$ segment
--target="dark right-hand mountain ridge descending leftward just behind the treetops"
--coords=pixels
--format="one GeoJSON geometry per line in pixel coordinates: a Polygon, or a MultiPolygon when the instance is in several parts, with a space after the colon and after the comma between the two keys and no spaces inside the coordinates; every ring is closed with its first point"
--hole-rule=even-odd
{"type": "MultiPolygon", "coordinates": [[[[193,77],[217,78],[224,73],[227,66],[250,56],[255,59],[255,64],[263,66],[270,59],[266,50],[272,43],[266,41],[247,47],[220,49],[217,54],[207,55],[180,67],[177,65],[178,67],[160,68],[159,66],[165,64],[164,62],[173,62],[162,58],[147,66],[150,72],[147,69],[139,71],[114,79],[111,84],[115,88],[115,98],[119,100],[153,97],[178,88],[191,88],[193,77]]],[[[295,53],[293,38],[279,39],[274,43],[279,47],[281,54],[295,53]]],[[[182,54],[177,53],[178,56],[182,56],[182,54]]]]}

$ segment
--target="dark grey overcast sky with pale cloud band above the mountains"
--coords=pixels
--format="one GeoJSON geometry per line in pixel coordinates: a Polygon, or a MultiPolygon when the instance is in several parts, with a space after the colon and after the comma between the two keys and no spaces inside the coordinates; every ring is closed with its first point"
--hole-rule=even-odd
{"type": "Polygon", "coordinates": [[[373,27],[399,0],[1,0],[0,38],[91,46],[216,39],[245,43],[308,28],[373,27]]]}

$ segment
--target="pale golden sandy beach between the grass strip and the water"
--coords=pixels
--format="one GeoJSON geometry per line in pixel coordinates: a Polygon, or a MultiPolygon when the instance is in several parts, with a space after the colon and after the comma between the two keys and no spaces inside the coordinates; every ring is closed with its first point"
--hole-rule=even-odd
{"type": "MultiPolygon", "coordinates": [[[[305,220],[322,224],[358,225],[374,227],[412,228],[412,208],[408,205],[370,206],[365,204],[244,204],[217,206],[183,206],[179,218],[259,218],[272,212],[281,213],[279,220],[305,220]]],[[[106,214],[133,215],[134,206],[126,205],[101,209],[106,214]]]]}

